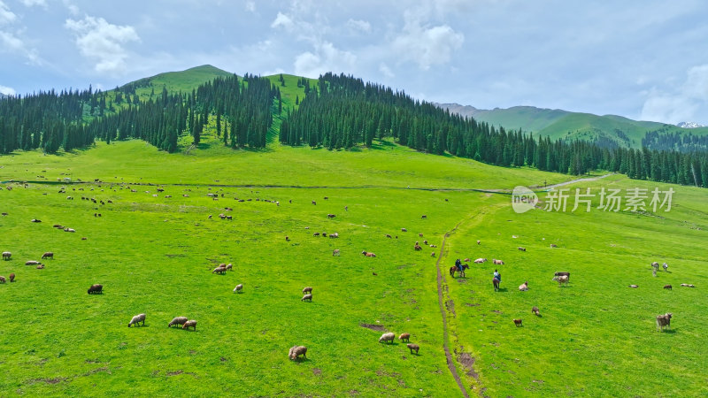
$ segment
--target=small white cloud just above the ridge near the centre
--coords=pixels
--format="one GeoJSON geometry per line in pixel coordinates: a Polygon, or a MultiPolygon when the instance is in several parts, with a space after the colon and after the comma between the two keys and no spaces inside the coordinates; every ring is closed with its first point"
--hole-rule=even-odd
{"type": "Polygon", "coordinates": [[[357,56],[342,51],[331,42],[315,46],[315,52],[305,51],[295,58],[295,74],[311,78],[327,72],[351,72],[357,63],[357,56]]]}

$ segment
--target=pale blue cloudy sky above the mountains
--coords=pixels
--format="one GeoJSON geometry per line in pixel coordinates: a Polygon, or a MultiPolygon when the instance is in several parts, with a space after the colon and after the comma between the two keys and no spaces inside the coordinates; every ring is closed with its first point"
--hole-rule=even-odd
{"type": "Polygon", "coordinates": [[[211,64],[436,102],[708,124],[704,0],[0,0],[0,92],[211,64]]]}

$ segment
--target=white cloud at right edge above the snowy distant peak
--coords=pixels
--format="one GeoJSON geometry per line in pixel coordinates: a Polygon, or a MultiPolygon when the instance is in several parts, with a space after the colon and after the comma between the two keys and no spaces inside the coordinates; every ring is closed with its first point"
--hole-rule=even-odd
{"type": "Polygon", "coordinates": [[[695,121],[708,107],[708,65],[689,69],[686,80],[672,92],[652,88],[642,107],[643,120],[664,123],[695,121]]]}

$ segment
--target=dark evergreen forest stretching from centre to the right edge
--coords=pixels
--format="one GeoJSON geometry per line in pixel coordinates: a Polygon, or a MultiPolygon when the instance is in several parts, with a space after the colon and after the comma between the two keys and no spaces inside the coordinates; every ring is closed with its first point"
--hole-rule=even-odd
{"type": "Polygon", "coordinates": [[[535,139],[419,102],[404,92],[344,74],[320,76],[296,111],[281,124],[287,145],[350,149],[393,137],[409,148],[451,153],[491,165],[531,166],[580,175],[591,170],[633,179],[708,187],[708,153],[600,147],[593,142],[535,139]]]}

